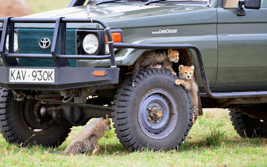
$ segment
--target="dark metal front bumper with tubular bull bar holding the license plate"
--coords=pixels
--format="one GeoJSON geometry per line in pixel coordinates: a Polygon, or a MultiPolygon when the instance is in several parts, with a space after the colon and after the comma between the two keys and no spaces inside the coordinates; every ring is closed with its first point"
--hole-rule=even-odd
{"type": "Polygon", "coordinates": [[[98,19],[24,19],[24,18],[0,18],[3,22],[2,37],[0,41],[0,55],[3,67],[0,67],[0,87],[10,89],[28,89],[28,90],[62,90],[69,88],[81,88],[103,84],[118,84],[119,68],[115,64],[114,47],[112,45],[111,31],[108,25],[98,19]],[[66,55],[66,24],[70,22],[77,23],[99,23],[106,31],[109,41],[110,55],[66,55]],[[13,35],[15,23],[55,23],[53,41],[51,45],[51,54],[27,54],[13,53],[13,35]],[[13,33],[12,33],[13,32],[13,33]],[[9,53],[5,50],[5,44],[9,35],[9,53]],[[58,54],[58,43],[60,46],[58,54]],[[56,67],[19,67],[18,58],[24,59],[52,59],[56,67]],[[68,59],[86,59],[103,60],[110,59],[110,68],[73,68],[70,67],[68,59]],[[54,69],[54,83],[27,83],[10,82],[10,69],[54,69]],[[104,76],[95,76],[94,71],[105,71],[104,76]]]}

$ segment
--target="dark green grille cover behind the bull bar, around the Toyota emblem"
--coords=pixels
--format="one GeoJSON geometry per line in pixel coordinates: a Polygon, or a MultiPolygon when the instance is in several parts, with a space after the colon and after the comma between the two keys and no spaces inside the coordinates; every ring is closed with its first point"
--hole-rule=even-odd
{"type": "MultiPolygon", "coordinates": [[[[67,29],[66,31],[66,55],[76,55],[75,51],[75,32],[76,29],[67,29]]],[[[19,53],[31,54],[51,54],[51,47],[42,49],[39,46],[39,40],[42,38],[49,38],[53,41],[54,29],[44,28],[19,28],[18,42],[19,53]]],[[[60,37],[59,37],[60,39],[60,37]]],[[[59,40],[60,41],[60,40],[59,40]]],[[[59,47],[57,52],[59,53],[59,47]]],[[[76,59],[68,59],[71,67],[77,67],[76,59]]],[[[22,67],[55,67],[52,59],[20,59],[20,66],[22,67]]]]}

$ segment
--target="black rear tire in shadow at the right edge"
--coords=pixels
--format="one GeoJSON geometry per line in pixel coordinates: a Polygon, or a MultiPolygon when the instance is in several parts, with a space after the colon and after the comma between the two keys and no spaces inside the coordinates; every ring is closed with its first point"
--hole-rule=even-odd
{"type": "Polygon", "coordinates": [[[251,118],[248,115],[229,109],[230,120],[237,134],[241,137],[267,137],[267,122],[251,118]]]}

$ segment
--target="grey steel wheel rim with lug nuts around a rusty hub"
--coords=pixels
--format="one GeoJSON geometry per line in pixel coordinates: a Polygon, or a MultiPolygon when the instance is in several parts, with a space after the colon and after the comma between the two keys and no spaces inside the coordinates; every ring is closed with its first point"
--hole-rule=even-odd
{"type": "Polygon", "coordinates": [[[156,88],[143,95],[138,105],[138,123],[141,130],[150,138],[162,139],[174,130],[178,120],[178,106],[175,98],[165,89],[156,88]],[[148,107],[162,109],[162,118],[149,120],[148,107]]]}

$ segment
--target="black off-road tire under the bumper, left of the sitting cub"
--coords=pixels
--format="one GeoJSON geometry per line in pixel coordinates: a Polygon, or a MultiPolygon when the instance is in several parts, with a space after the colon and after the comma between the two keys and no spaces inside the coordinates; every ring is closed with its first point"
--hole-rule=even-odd
{"type": "Polygon", "coordinates": [[[23,102],[14,100],[10,89],[0,88],[0,132],[10,144],[28,146],[40,144],[57,147],[71,131],[70,126],[51,124],[49,130],[33,131],[25,123],[21,114],[23,102]]]}

